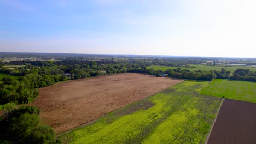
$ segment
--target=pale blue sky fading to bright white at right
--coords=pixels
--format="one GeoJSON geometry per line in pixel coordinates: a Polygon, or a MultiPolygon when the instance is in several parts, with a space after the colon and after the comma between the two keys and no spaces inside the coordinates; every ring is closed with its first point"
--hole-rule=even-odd
{"type": "Polygon", "coordinates": [[[0,52],[256,57],[253,0],[0,0],[0,52]]]}

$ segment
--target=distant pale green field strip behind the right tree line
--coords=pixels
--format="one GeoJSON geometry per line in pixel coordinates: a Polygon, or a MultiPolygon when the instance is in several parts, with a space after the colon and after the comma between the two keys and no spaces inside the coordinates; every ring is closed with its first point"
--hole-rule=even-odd
{"type": "Polygon", "coordinates": [[[190,64],[191,67],[195,67],[195,68],[185,68],[185,67],[169,67],[169,66],[160,66],[160,65],[152,65],[147,67],[147,69],[149,68],[154,68],[155,70],[167,70],[167,69],[176,69],[176,68],[181,68],[181,69],[188,69],[188,70],[206,70],[206,71],[210,71],[210,70],[218,70],[220,71],[222,68],[226,68],[226,70],[228,71],[235,71],[236,69],[251,69],[251,70],[255,70],[256,71],[256,67],[245,67],[245,66],[207,66],[207,65],[202,65],[202,64],[190,64]]]}

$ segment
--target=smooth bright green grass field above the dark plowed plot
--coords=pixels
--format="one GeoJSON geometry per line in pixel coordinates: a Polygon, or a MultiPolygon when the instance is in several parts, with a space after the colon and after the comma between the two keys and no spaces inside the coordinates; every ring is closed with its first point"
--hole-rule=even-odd
{"type": "Polygon", "coordinates": [[[256,103],[256,82],[215,79],[201,94],[256,103]]]}

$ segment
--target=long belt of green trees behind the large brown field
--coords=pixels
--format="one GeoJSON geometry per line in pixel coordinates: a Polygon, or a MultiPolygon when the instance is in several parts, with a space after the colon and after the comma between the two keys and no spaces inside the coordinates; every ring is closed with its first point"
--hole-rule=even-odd
{"type": "MultiPolygon", "coordinates": [[[[198,61],[184,61],[185,63],[195,63],[198,61]]],[[[182,64],[184,64],[182,62],[182,64]]],[[[234,73],[222,68],[220,71],[190,71],[181,68],[169,69],[166,71],[147,69],[153,63],[165,63],[161,59],[154,61],[143,61],[140,59],[102,59],[100,61],[79,61],[79,60],[62,60],[62,61],[21,61],[30,63],[24,67],[15,69],[0,67],[0,73],[22,76],[20,80],[11,77],[2,77],[0,81],[0,104],[6,104],[10,101],[18,104],[30,103],[38,95],[38,88],[53,85],[56,82],[67,81],[71,79],[82,79],[101,75],[110,75],[117,73],[148,73],[151,75],[161,76],[166,74],[170,77],[193,80],[213,80],[213,79],[232,79],[256,81],[256,72],[249,69],[237,69],[234,73]],[[45,64],[38,66],[40,64],[45,64]]],[[[175,62],[173,62],[175,63],[175,62]]],[[[18,62],[15,62],[18,64],[18,62]]],[[[166,64],[168,64],[166,62],[166,64]]],[[[170,64],[170,63],[169,63],[170,64]]],[[[177,62],[176,64],[181,64],[177,62]]],[[[182,67],[186,67],[183,65],[182,67]]]]}

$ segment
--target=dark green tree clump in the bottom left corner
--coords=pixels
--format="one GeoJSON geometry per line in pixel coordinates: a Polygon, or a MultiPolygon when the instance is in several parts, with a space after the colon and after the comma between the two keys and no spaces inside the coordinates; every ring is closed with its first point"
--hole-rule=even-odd
{"type": "Polygon", "coordinates": [[[61,143],[53,128],[40,124],[40,110],[35,106],[16,106],[5,109],[0,119],[0,139],[4,143],[61,143]]]}

